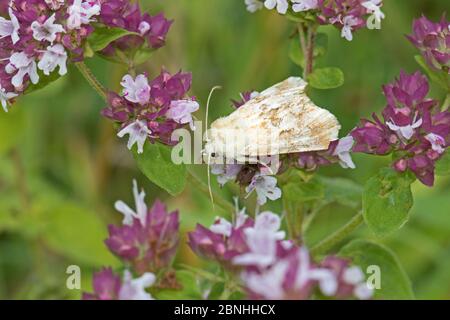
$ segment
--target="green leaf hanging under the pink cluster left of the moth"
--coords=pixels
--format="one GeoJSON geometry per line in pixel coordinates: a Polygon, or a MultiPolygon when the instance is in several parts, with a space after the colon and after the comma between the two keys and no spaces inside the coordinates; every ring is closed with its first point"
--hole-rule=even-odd
{"type": "Polygon", "coordinates": [[[144,152],[134,157],[139,169],[157,186],[171,195],[180,194],[186,185],[187,170],[184,164],[174,164],[171,158],[172,148],[160,143],[146,143],[144,152]]]}

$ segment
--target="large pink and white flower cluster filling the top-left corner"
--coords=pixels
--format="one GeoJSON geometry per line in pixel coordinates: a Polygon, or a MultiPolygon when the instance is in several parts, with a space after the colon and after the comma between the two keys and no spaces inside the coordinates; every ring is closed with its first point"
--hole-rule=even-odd
{"type": "MultiPolygon", "coordinates": [[[[6,2],[6,1],[4,1],[6,2]]],[[[83,58],[83,42],[101,11],[99,1],[12,0],[0,17],[0,100],[12,99],[67,60],[83,58]]]]}

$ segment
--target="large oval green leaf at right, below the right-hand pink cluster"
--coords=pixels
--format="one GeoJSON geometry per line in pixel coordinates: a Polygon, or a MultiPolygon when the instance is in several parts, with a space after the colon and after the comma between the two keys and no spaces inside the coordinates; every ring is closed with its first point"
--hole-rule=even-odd
{"type": "Polygon", "coordinates": [[[363,215],[370,230],[382,237],[400,229],[409,219],[413,205],[407,174],[384,168],[367,181],[363,193],[363,215]]]}

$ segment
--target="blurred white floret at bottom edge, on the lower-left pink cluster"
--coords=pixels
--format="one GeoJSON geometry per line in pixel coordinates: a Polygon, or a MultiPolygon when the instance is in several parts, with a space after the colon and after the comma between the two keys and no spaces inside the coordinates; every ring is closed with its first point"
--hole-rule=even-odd
{"type": "Polygon", "coordinates": [[[125,270],[119,300],[153,300],[145,289],[151,287],[155,281],[156,277],[153,273],[146,272],[141,277],[133,279],[130,271],[125,270]]]}

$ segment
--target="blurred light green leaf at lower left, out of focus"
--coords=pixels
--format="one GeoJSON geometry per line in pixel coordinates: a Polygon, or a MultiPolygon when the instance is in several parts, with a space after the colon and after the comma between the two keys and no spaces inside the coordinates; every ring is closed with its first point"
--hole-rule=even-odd
{"type": "Polygon", "coordinates": [[[64,203],[52,208],[43,239],[52,250],[66,256],[74,264],[114,266],[117,260],[103,242],[108,236],[106,230],[95,212],[64,203]]]}

